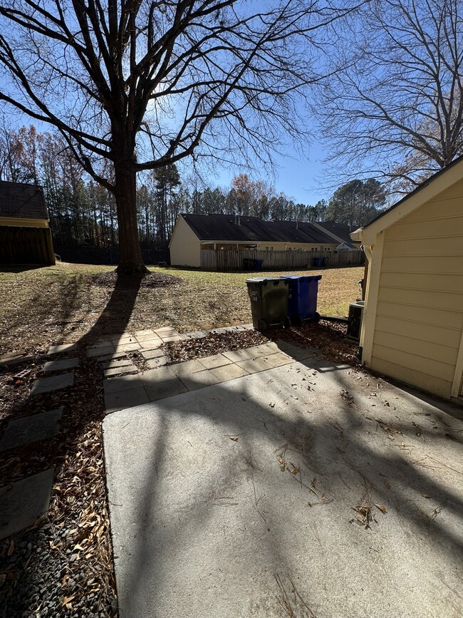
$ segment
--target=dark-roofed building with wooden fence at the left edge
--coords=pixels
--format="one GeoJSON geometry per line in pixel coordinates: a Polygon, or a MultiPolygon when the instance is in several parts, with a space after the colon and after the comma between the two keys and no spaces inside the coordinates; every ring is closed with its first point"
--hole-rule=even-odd
{"type": "Polygon", "coordinates": [[[55,264],[41,187],[0,181],[0,264],[55,264]]]}

